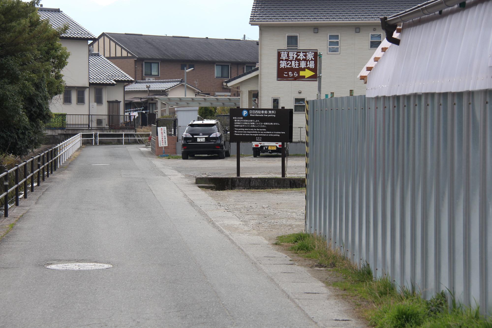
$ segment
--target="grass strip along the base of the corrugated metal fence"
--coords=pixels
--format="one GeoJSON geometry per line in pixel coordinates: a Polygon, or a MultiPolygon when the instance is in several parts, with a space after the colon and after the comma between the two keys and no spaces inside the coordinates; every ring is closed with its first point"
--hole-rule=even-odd
{"type": "Polygon", "coordinates": [[[313,259],[317,266],[330,268],[343,279],[331,283],[359,307],[369,324],[378,328],[492,328],[492,319],[456,301],[444,291],[430,300],[415,286],[400,290],[390,277],[373,278],[369,264],[353,263],[340,250],[327,246],[316,234],[297,232],[278,236],[276,245],[285,245],[299,256],[313,259]]]}

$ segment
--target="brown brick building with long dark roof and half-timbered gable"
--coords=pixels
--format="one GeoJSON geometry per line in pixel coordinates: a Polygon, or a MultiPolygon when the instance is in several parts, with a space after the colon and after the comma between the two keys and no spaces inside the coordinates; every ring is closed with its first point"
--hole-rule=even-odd
{"type": "Polygon", "coordinates": [[[252,69],[258,62],[258,42],[187,36],[102,33],[91,43],[135,80],[184,78],[212,96],[238,97],[223,81],[252,69]]]}

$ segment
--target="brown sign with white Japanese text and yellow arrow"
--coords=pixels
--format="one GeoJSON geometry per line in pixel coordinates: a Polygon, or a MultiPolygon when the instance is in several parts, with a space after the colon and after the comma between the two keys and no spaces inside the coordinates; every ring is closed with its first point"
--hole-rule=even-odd
{"type": "Polygon", "coordinates": [[[317,49],[277,50],[277,81],[317,81],[317,49]]]}

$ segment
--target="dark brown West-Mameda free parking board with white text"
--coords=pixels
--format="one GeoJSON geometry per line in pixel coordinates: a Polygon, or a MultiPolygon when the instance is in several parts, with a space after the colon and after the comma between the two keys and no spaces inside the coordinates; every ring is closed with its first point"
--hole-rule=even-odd
{"type": "Polygon", "coordinates": [[[292,109],[231,108],[231,142],[292,142],[292,109]]]}

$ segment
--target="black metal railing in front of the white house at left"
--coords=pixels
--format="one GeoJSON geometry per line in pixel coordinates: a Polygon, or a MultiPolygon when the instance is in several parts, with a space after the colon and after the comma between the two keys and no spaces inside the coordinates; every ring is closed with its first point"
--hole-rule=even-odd
{"type": "Polygon", "coordinates": [[[135,129],[132,115],[54,114],[49,129],[135,129]]]}

